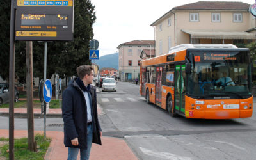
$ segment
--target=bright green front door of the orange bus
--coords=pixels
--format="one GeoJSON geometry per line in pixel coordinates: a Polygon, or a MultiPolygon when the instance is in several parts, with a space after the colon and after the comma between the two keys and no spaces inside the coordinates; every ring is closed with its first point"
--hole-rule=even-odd
{"type": "Polygon", "coordinates": [[[175,111],[185,114],[185,65],[175,67],[175,111]]]}

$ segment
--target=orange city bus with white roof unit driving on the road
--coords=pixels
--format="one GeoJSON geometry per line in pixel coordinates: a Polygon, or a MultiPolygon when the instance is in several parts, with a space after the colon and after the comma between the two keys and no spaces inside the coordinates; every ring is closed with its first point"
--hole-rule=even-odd
{"type": "Polygon", "coordinates": [[[147,103],[186,118],[246,118],[253,113],[250,50],[232,44],[182,44],[141,61],[147,103]]]}

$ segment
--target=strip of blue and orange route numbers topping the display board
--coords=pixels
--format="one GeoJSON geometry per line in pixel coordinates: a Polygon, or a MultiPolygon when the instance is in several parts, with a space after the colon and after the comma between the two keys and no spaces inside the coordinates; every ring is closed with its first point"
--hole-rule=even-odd
{"type": "Polygon", "coordinates": [[[73,0],[17,0],[17,6],[73,6],[73,0]]]}

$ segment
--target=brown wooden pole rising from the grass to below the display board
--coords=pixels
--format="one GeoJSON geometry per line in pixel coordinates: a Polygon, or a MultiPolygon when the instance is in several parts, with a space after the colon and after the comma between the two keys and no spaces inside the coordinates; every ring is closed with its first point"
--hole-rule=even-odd
{"type": "Polygon", "coordinates": [[[27,120],[28,120],[28,148],[36,152],[34,138],[34,113],[33,113],[33,51],[32,41],[26,41],[26,68],[27,68],[27,120]]]}

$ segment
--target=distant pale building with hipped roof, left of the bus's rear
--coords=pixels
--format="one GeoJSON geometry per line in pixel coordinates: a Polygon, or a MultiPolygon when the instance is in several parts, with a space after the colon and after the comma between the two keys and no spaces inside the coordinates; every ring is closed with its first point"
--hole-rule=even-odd
{"type": "MultiPolygon", "coordinates": [[[[133,40],[118,45],[119,49],[119,77],[121,81],[132,81],[140,78],[140,56],[144,49],[155,49],[154,40],[133,40]]],[[[152,56],[152,55],[151,55],[152,56]]]]}

